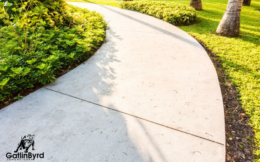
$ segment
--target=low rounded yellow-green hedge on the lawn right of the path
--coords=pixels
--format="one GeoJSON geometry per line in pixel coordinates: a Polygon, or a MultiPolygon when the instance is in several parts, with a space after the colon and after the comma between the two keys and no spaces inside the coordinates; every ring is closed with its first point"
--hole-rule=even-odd
{"type": "Polygon", "coordinates": [[[119,8],[145,13],[171,24],[190,23],[196,18],[194,8],[172,2],[122,1],[119,8]]]}

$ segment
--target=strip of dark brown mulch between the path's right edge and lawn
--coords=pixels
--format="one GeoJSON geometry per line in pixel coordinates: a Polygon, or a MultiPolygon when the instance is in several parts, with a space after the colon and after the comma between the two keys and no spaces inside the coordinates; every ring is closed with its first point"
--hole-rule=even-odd
{"type": "Polygon", "coordinates": [[[241,108],[241,102],[237,99],[239,96],[236,87],[231,84],[227,74],[223,71],[219,57],[210,51],[203,42],[197,41],[208,53],[218,74],[225,112],[226,162],[251,162],[254,159],[252,146],[254,132],[248,124],[249,116],[241,108]]]}

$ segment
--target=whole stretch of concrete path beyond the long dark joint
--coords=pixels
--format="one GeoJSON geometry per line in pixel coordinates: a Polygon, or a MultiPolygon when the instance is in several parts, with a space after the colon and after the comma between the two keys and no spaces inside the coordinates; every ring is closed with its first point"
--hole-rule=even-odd
{"type": "Polygon", "coordinates": [[[46,88],[225,144],[217,73],[194,38],[135,11],[72,4],[105,16],[107,42],[46,88]]]}

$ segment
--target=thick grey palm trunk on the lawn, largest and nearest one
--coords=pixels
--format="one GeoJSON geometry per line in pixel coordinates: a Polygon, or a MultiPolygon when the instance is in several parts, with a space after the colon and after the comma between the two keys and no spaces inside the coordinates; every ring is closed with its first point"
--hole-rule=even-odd
{"type": "Polygon", "coordinates": [[[229,0],[227,9],[221,19],[217,34],[221,36],[237,37],[240,30],[240,12],[243,0],[229,0]]]}

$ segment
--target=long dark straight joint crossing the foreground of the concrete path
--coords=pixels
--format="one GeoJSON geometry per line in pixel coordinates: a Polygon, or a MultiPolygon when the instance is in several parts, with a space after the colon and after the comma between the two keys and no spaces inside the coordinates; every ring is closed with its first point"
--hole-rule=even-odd
{"type": "Polygon", "coordinates": [[[152,122],[152,121],[146,120],[146,119],[144,119],[144,118],[140,118],[140,117],[138,117],[138,116],[134,116],[134,115],[131,115],[131,114],[128,114],[128,113],[125,113],[125,112],[119,111],[119,110],[115,110],[115,109],[112,109],[112,108],[109,108],[109,107],[105,107],[105,106],[102,106],[102,105],[100,105],[100,104],[96,104],[96,103],[93,103],[93,102],[90,102],[90,101],[87,101],[87,100],[83,100],[83,99],[81,99],[81,98],[74,97],[74,96],[72,96],[72,95],[68,95],[68,94],[65,94],[65,93],[61,93],[61,92],[59,92],[59,91],[52,90],[52,89],[49,89],[49,88],[46,88],[46,87],[43,87],[43,88],[44,88],[44,89],[47,89],[47,90],[51,90],[51,91],[57,92],[57,93],[60,93],[60,94],[63,94],[63,95],[66,95],[66,96],[70,96],[70,97],[73,97],[73,98],[79,99],[79,100],[82,100],[82,101],[86,101],[86,102],[88,102],[88,103],[92,103],[92,104],[95,104],[95,105],[98,105],[98,106],[101,106],[101,107],[104,107],[104,108],[107,108],[107,109],[110,109],[110,110],[113,110],[113,111],[117,111],[117,112],[120,112],[120,113],[123,113],[123,114],[126,114],[126,115],[130,115],[130,116],[133,116],[133,117],[135,117],[135,118],[139,118],[139,119],[142,119],[142,120],[145,120],[145,121],[151,122],[151,123],[153,123],[153,124],[161,125],[161,126],[164,126],[164,127],[166,127],[166,128],[169,128],[169,129],[173,129],[173,130],[176,130],[176,131],[179,131],[179,132],[182,132],[182,133],[186,133],[186,134],[191,135],[191,136],[195,136],[195,137],[198,137],[198,138],[202,138],[202,139],[205,139],[205,140],[208,140],[208,141],[211,141],[211,142],[214,142],[214,143],[217,143],[217,144],[220,144],[220,145],[225,146],[225,145],[222,144],[222,143],[215,142],[215,141],[213,141],[213,140],[206,139],[206,138],[203,138],[203,137],[200,137],[200,136],[196,136],[196,135],[193,135],[193,134],[191,134],[191,133],[187,133],[187,132],[185,132],[185,131],[181,131],[181,130],[178,130],[178,129],[175,129],[175,128],[171,128],[171,127],[166,126],[166,125],[162,125],[162,124],[159,124],[159,123],[155,123],[155,122],[152,122]]]}

